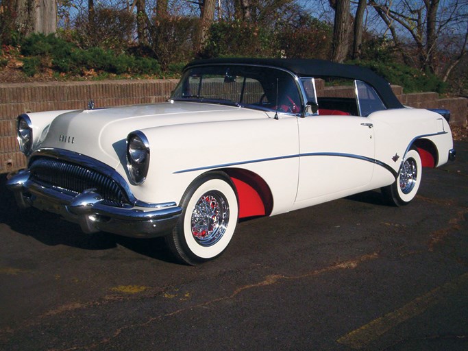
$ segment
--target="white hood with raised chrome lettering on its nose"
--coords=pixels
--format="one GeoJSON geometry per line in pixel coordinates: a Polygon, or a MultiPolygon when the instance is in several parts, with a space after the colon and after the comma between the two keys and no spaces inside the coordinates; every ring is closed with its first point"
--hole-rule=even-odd
{"type": "Polygon", "coordinates": [[[52,121],[38,147],[85,154],[116,168],[120,162],[119,154],[125,152],[127,135],[134,130],[252,117],[264,118],[266,115],[235,106],[176,101],[73,111],[60,114],[52,121]]]}

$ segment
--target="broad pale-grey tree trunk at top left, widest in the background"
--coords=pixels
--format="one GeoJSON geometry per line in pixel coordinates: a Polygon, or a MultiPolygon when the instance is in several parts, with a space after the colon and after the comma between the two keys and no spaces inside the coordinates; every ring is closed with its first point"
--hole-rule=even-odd
{"type": "Polygon", "coordinates": [[[34,32],[51,34],[57,31],[56,0],[17,0],[16,25],[27,36],[34,32]]]}

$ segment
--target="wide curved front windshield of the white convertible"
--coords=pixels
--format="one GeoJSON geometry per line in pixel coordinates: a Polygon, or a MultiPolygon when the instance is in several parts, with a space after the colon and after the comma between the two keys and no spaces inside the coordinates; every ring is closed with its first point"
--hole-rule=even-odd
{"type": "Polygon", "coordinates": [[[261,66],[196,66],[184,72],[171,99],[229,104],[278,112],[301,112],[295,77],[261,66]]]}

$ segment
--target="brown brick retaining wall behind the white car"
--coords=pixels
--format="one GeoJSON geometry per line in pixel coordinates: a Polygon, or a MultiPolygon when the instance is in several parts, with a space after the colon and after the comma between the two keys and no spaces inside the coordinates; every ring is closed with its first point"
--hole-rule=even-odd
{"type": "MultiPolygon", "coordinates": [[[[16,142],[16,117],[25,112],[83,109],[93,99],[95,107],[151,104],[167,99],[177,80],[111,80],[0,84],[0,173],[24,168],[25,157],[16,142]]],[[[468,99],[443,98],[436,93],[403,94],[392,86],[402,104],[415,108],[446,108],[451,124],[466,125],[468,99]]]]}

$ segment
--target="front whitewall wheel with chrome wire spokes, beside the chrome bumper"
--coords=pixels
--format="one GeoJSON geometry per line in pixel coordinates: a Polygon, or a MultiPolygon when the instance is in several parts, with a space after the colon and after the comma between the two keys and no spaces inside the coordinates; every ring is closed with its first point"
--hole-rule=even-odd
{"type": "Polygon", "coordinates": [[[182,196],[182,215],[166,237],[175,257],[197,265],[219,256],[229,245],[238,217],[234,184],[223,172],[194,180],[182,196]]]}

